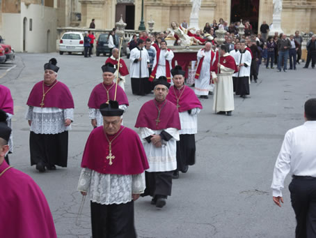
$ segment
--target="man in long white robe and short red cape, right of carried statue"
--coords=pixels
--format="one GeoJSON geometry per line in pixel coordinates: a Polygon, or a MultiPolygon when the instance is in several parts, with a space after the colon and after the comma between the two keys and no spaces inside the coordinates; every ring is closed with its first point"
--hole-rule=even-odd
{"type": "Polygon", "coordinates": [[[214,88],[213,110],[217,114],[232,115],[234,107],[234,89],[232,74],[238,71],[235,59],[230,56],[226,45],[221,45],[221,59],[216,61],[218,69],[212,71],[212,78],[216,82],[214,88]],[[218,70],[218,71],[217,71],[218,70]],[[217,74],[217,72],[219,72],[217,74]]]}

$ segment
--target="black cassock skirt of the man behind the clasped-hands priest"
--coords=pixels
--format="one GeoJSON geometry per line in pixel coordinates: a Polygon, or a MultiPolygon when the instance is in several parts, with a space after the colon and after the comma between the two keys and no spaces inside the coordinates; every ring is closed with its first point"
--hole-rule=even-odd
{"type": "Polygon", "coordinates": [[[177,170],[186,172],[187,165],[196,163],[196,139],[194,134],[180,135],[177,141],[177,170]]]}

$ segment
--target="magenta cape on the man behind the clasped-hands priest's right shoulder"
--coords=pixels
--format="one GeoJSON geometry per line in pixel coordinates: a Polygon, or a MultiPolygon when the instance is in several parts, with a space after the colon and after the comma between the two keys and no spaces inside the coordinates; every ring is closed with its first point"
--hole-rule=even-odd
{"type": "Polygon", "coordinates": [[[180,107],[178,108],[179,112],[185,112],[187,110],[191,110],[196,107],[200,109],[203,108],[202,104],[200,103],[200,100],[198,100],[198,97],[196,96],[196,94],[194,94],[194,91],[185,85],[184,85],[184,89],[182,88],[180,90],[177,90],[175,86],[172,86],[169,89],[169,93],[166,99],[168,101],[171,101],[171,103],[173,103],[174,105],[177,105],[177,98],[179,98],[182,90],[184,91],[182,93],[182,96],[179,99],[179,105],[180,105],[180,107]],[[175,94],[177,94],[177,98],[175,94]]]}

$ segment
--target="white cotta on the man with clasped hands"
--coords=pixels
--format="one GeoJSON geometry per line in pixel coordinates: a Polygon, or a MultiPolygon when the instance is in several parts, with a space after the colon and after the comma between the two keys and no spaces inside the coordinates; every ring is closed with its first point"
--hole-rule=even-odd
{"type": "Polygon", "coordinates": [[[162,146],[157,148],[152,142],[148,143],[145,137],[159,135],[162,130],[151,130],[147,127],[139,128],[141,131],[141,142],[149,163],[147,172],[166,172],[177,168],[177,141],[180,140],[179,131],[176,128],[166,128],[164,131],[169,133],[172,138],[168,141],[162,140],[162,146]]]}

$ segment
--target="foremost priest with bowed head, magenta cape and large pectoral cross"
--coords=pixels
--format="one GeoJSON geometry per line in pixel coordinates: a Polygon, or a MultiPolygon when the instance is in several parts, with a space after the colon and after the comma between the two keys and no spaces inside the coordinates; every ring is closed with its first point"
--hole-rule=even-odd
{"type": "Polygon", "coordinates": [[[100,112],[104,124],[88,137],[77,189],[90,193],[93,238],[136,238],[133,201],[145,190],[148,161],[139,135],[122,126],[118,102],[103,103],[100,112]]]}

